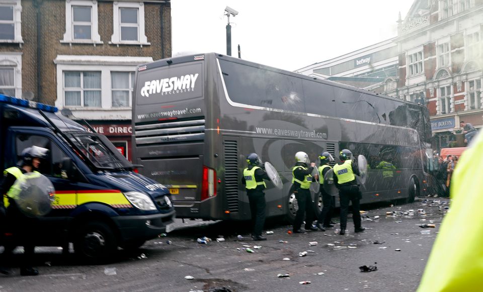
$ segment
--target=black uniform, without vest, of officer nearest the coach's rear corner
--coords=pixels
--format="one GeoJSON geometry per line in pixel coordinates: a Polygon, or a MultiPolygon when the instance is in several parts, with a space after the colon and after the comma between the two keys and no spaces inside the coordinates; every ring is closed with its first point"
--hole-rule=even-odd
{"type": "MultiPolygon", "coordinates": [[[[252,169],[254,166],[249,165],[248,169],[252,169]]],[[[263,182],[263,179],[270,179],[268,174],[262,168],[255,170],[255,181],[263,182]]],[[[241,183],[247,184],[245,177],[241,178],[241,183]]],[[[263,226],[265,224],[265,209],[267,203],[265,202],[265,189],[264,185],[257,185],[254,189],[247,189],[248,200],[250,202],[250,211],[252,213],[252,236],[261,236],[263,226]]]]}

